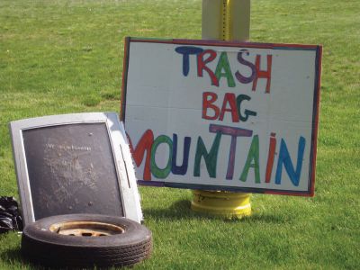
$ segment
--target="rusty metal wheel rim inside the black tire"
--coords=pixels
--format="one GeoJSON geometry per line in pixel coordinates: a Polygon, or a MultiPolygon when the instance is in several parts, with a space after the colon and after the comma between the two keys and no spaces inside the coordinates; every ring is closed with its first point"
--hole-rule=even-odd
{"type": "Polygon", "coordinates": [[[96,221],[71,221],[52,224],[51,232],[76,237],[104,237],[121,234],[125,231],[120,226],[96,221]]]}

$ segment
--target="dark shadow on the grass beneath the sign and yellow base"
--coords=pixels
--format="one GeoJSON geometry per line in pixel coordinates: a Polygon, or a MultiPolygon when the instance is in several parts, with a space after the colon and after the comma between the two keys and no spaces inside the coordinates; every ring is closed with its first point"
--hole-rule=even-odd
{"type": "Polygon", "coordinates": [[[241,219],[232,218],[227,219],[223,217],[216,217],[210,214],[197,212],[191,210],[191,202],[188,200],[180,200],[174,202],[167,209],[143,209],[144,218],[153,220],[224,220],[224,222],[247,222],[247,223],[274,223],[282,224],[291,221],[290,216],[276,215],[273,213],[257,213],[253,212],[251,216],[243,217],[241,219]]]}

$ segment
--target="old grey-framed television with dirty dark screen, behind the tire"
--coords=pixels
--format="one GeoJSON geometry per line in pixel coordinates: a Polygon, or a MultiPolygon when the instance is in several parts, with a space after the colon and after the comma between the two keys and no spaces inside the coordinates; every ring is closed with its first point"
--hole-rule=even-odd
{"type": "Polygon", "coordinates": [[[130,148],[115,112],[24,119],[10,129],[24,225],[67,213],[142,220],[130,148]]]}

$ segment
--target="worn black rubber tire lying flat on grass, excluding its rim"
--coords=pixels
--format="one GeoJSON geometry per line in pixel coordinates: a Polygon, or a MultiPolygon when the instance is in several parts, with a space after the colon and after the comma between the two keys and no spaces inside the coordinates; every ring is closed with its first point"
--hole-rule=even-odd
{"type": "Polygon", "coordinates": [[[120,217],[60,215],[37,220],[23,229],[23,257],[43,266],[132,266],[149,257],[151,250],[151,231],[120,217]],[[103,222],[120,226],[124,232],[103,237],[76,237],[49,230],[53,224],[69,221],[103,222]]]}

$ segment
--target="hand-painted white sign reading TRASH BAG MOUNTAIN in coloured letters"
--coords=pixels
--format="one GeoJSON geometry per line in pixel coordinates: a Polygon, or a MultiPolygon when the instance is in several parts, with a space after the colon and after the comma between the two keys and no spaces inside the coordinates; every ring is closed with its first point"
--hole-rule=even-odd
{"type": "Polygon", "coordinates": [[[321,47],[127,38],[139,184],[314,193],[321,47]]]}

